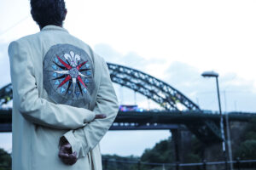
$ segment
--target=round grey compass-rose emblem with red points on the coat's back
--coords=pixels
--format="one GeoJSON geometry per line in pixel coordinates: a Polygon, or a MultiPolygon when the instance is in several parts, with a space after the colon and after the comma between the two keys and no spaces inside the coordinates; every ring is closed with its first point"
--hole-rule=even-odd
{"type": "Polygon", "coordinates": [[[44,57],[44,88],[58,104],[83,107],[95,88],[89,55],[71,44],[57,44],[44,57]]]}

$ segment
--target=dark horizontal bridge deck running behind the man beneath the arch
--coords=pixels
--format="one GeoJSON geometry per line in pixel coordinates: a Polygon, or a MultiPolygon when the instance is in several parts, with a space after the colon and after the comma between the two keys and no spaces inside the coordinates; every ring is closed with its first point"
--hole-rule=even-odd
{"type": "MultiPolygon", "coordinates": [[[[255,113],[230,112],[228,115],[230,121],[238,122],[249,122],[256,118],[255,113]]],[[[119,111],[110,130],[173,129],[179,124],[196,124],[206,119],[219,122],[219,115],[199,111],[119,111]]],[[[11,109],[0,110],[0,132],[11,132],[11,122],[11,109]]]]}

